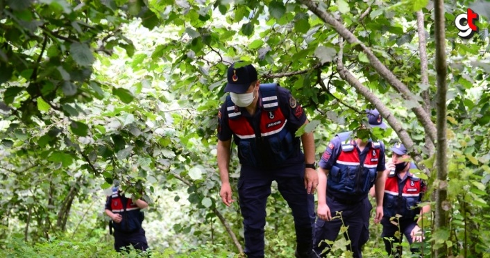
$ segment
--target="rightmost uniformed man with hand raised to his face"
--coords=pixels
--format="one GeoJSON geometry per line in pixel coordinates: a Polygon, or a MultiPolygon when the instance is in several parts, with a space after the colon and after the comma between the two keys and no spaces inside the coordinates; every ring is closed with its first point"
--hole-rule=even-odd
{"type": "MultiPolygon", "coordinates": [[[[420,209],[417,207],[422,201],[423,193],[427,187],[425,182],[409,172],[415,169],[415,164],[409,162],[410,156],[407,155],[407,148],[403,144],[395,144],[391,160],[387,162],[387,180],[385,184],[385,198],[383,198],[384,216],[381,220],[383,232],[381,234],[385,241],[385,250],[388,255],[402,257],[401,246],[394,248],[394,243],[401,243],[403,235],[407,237],[410,245],[420,242],[423,239],[419,221],[422,214],[430,211],[430,205],[425,205],[420,209]],[[398,219],[396,214],[401,215],[398,219]],[[420,215],[416,219],[416,216],[420,215]],[[397,223],[398,225],[394,225],[397,223]],[[396,237],[396,232],[400,231],[400,239],[396,237]],[[393,239],[390,241],[389,239],[393,239]]],[[[410,248],[412,253],[418,252],[418,248],[410,248]]]]}

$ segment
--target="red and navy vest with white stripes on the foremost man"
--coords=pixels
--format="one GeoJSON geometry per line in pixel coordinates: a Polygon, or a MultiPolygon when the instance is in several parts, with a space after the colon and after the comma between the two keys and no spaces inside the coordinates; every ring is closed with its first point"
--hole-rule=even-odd
{"type": "Polygon", "coordinates": [[[287,119],[279,108],[277,83],[259,87],[260,128],[256,132],[240,107],[226,97],[228,126],[235,135],[241,164],[249,166],[277,166],[299,151],[299,139],[287,130],[287,119]]]}

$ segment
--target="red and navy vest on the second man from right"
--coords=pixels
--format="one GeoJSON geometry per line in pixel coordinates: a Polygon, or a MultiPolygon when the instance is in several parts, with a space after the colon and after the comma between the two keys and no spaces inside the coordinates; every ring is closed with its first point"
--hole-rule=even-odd
{"type": "Polygon", "coordinates": [[[337,162],[328,173],[328,195],[336,198],[358,200],[367,196],[377,178],[381,144],[371,142],[364,160],[360,160],[354,141],[341,144],[337,162]]]}

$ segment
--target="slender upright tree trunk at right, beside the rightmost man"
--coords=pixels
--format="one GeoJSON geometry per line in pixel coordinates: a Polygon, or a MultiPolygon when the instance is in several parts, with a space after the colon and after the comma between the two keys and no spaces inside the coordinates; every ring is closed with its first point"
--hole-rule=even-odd
{"type": "MultiPolygon", "coordinates": [[[[435,230],[448,230],[448,159],[447,139],[446,139],[446,94],[448,85],[446,83],[447,65],[446,65],[446,35],[444,32],[444,1],[434,1],[435,11],[435,42],[436,42],[436,71],[437,71],[437,180],[436,185],[436,208],[435,208],[435,230]]],[[[446,240],[446,239],[444,239],[446,240]]],[[[446,241],[435,250],[436,257],[446,257],[448,246],[446,241]]]]}

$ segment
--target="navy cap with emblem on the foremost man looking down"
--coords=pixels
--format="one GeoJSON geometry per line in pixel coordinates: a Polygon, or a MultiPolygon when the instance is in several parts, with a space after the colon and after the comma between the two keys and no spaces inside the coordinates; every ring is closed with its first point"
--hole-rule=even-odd
{"type": "Polygon", "coordinates": [[[245,93],[255,80],[257,80],[257,70],[253,65],[235,69],[235,63],[233,63],[228,68],[228,83],[225,92],[245,93]]]}

